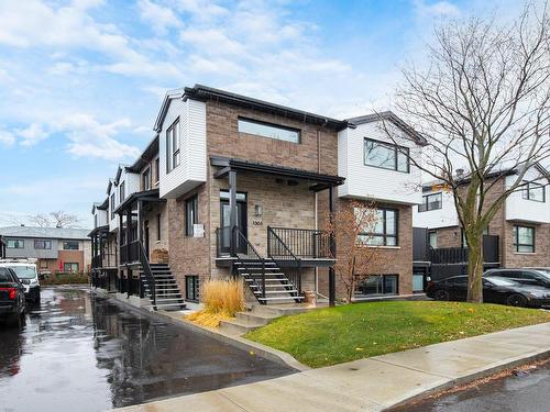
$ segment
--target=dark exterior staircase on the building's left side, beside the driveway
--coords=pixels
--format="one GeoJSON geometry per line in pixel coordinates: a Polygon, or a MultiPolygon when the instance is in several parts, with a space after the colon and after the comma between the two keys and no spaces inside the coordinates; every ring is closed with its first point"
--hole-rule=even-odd
{"type": "Polygon", "coordinates": [[[153,310],[165,311],[185,309],[185,300],[179,291],[174,275],[172,275],[169,266],[167,264],[150,264],[150,267],[154,278],[156,303],[153,300],[153,293],[143,270],[140,271],[140,277],[145,296],[151,300],[151,308],[153,310]]]}

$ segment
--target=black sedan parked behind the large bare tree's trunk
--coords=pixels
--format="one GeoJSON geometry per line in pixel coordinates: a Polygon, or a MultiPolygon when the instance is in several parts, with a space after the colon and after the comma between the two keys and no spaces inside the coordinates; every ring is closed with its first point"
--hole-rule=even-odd
{"type": "MultiPolygon", "coordinates": [[[[453,276],[441,281],[429,282],[426,294],[436,300],[465,301],[468,276],[453,276]]],[[[483,279],[483,301],[510,307],[540,308],[550,305],[550,290],[492,276],[483,279]]]]}

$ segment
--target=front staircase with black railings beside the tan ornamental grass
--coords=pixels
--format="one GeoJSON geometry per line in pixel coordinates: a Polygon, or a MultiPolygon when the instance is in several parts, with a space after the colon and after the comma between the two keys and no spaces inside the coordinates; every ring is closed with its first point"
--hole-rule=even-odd
{"type": "Polygon", "coordinates": [[[249,286],[261,304],[299,303],[304,300],[300,291],[285,276],[271,258],[250,259],[238,256],[234,269],[249,286]],[[264,293],[265,287],[265,293],[264,293]]]}

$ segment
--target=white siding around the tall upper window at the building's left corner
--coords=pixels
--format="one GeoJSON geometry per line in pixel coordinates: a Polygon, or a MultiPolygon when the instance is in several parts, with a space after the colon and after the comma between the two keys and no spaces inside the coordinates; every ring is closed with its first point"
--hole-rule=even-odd
{"type": "Polygon", "coordinates": [[[206,104],[172,100],[158,138],[162,198],[177,198],[206,181],[206,104]],[[166,130],[179,118],[179,165],[166,172],[166,130]]]}

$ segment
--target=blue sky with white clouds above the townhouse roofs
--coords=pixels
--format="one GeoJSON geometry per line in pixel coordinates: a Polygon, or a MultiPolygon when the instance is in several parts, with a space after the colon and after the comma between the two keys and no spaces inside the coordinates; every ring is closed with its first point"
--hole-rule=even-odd
{"type": "Polygon", "coordinates": [[[442,19],[515,0],[0,0],[0,225],[91,226],[169,89],[202,83],[346,119],[392,108],[442,19]]]}

